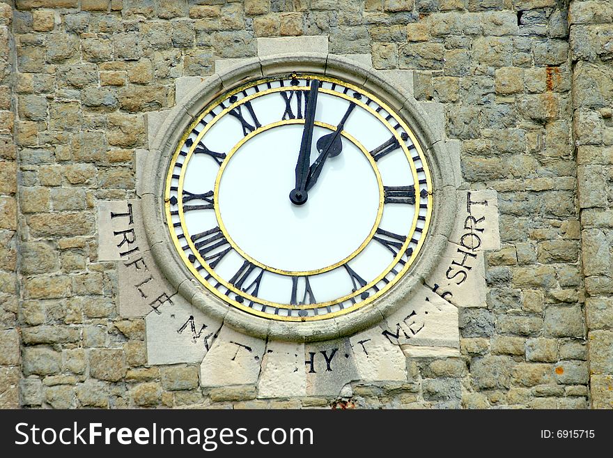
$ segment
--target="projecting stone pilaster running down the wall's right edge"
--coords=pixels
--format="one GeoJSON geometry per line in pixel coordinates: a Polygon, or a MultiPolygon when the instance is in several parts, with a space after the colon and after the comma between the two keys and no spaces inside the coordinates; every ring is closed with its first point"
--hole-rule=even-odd
{"type": "Polygon", "coordinates": [[[569,22],[591,401],[603,409],[613,406],[613,3],[575,1],[569,22]]]}

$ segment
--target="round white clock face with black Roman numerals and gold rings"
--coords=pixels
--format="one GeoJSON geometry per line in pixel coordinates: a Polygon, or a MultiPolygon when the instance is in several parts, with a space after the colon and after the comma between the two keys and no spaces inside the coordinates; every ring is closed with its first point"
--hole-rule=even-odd
{"type": "Polygon", "coordinates": [[[393,287],[424,243],[421,146],[378,97],[323,75],[244,84],[196,116],[164,195],[176,250],[228,305],[312,321],[393,287]]]}

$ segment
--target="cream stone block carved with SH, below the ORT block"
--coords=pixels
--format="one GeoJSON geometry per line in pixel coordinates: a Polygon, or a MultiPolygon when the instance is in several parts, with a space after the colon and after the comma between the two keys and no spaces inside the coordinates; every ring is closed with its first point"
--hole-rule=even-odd
{"type": "Polygon", "coordinates": [[[483,252],[448,242],[426,284],[458,307],[486,307],[485,270],[483,252]]]}

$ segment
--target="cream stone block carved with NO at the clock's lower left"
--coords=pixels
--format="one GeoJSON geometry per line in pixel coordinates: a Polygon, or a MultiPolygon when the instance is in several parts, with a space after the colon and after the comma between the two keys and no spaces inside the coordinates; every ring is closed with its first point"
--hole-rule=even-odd
{"type": "Polygon", "coordinates": [[[222,322],[206,316],[179,294],[171,301],[145,317],[148,363],[201,362],[222,322]]]}

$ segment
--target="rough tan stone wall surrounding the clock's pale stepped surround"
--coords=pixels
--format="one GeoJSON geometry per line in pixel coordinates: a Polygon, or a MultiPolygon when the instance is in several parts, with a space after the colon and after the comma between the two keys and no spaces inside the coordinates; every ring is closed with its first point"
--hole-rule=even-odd
{"type": "Polygon", "coordinates": [[[570,16],[566,0],[16,0],[1,12],[0,405],[17,405],[20,379],[24,407],[567,409],[590,405],[591,373],[593,406],[612,406],[610,1],[573,1],[570,16]],[[280,399],[201,388],[199,365],[147,365],[145,320],[118,314],[116,263],[97,259],[95,207],[136,197],[143,115],[173,106],[176,78],[300,35],[414,70],[415,98],[444,104],[464,187],[498,192],[486,306],[460,308],[460,356],[407,356],[406,382],[280,399]]]}

